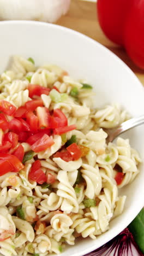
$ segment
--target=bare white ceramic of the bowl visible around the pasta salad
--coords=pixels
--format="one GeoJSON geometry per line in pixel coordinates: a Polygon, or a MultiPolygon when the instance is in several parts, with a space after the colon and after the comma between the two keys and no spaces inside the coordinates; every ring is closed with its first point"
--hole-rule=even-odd
{"type": "MultiPolygon", "coordinates": [[[[11,55],[33,57],[37,65],[55,63],[75,78],[87,78],[97,92],[95,105],[118,102],[131,115],[143,114],[144,91],[135,74],[103,45],[68,28],[33,21],[0,22],[0,72],[7,67],[11,55]]],[[[143,126],[127,132],[130,144],[144,156],[143,126]]],[[[144,205],[144,166],[135,181],[121,190],[127,202],[121,216],[113,219],[110,230],[97,240],[83,239],[68,246],[63,256],[80,256],[111,240],[136,217],[144,205]]]]}

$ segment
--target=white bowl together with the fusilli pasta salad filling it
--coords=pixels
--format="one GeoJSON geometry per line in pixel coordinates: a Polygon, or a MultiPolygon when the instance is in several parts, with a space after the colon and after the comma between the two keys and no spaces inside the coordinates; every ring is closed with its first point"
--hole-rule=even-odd
{"type": "Polygon", "coordinates": [[[2,45],[9,45],[0,75],[0,253],[84,255],[116,236],[142,207],[142,129],[109,144],[104,131],[142,112],[142,86],[117,57],[78,33],[40,22],[0,27],[2,45]],[[45,57],[43,40],[32,49],[31,31],[39,38],[49,32],[45,57]],[[15,48],[17,32],[21,43],[30,37],[28,49],[27,43],[26,50],[15,48]],[[73,37],[77,46],[67,56],[73,37]],[[89,70],[81,42],[100,57],[86,54],[89,70]]]}

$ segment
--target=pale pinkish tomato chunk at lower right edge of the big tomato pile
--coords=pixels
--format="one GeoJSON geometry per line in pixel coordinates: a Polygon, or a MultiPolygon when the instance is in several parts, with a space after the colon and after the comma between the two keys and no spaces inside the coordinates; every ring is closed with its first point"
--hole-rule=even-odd
{"type": "Polygon", "coordinates": [[[42,138],[38,139],[38,141],[31,145],[31,149],[34,152],[40,152],[51,147],[54,143],[55,142],[49,137],[49,135],[44,134],[42,138]]]}

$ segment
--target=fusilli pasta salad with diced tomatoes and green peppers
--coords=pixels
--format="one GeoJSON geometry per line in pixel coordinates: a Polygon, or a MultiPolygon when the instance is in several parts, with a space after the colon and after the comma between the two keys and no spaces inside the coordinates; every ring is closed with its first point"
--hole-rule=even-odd
{"type": "Polygon", "coordinates": [[[0,253],[61,253],[122,214],[118,189],[139,173],[129,139],[104,128],[129,118],[117,104],[94,109],[92,86],[60,67],[14,56],[0,76],[0,253]]]}

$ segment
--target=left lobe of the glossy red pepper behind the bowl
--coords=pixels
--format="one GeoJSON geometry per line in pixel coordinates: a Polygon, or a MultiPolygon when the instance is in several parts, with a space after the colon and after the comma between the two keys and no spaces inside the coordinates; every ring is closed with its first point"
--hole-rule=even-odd
{"type": "MultiPolygon", "coordinates": [[[[116,44],[124,45],[125,20],[133,2],[134,0],[98,0],[97,2],[100,26],[105,35],[116,44]]],[[[131,31],[132,28],[131,24],[131,31]]]]}

